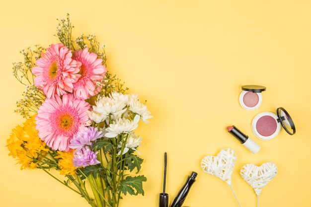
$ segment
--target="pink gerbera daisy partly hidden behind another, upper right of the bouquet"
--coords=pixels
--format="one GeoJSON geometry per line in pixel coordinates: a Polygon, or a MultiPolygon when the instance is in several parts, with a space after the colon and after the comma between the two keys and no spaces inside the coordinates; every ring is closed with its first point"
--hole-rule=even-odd
{"type": "Polygon", "coordinates": [[[102,59],[97,59],[97,54],[89,53],[88,49],[77,50],[75,60],[80,62],[80,78],[74,83],[74,94],[78,99],[88,99],[98,93],[96,82],[101,80],[106,73],[102,59]]]}

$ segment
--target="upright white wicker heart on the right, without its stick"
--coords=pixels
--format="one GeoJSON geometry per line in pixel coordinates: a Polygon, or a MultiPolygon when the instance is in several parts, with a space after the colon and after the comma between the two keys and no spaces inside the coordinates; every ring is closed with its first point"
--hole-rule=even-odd
{"type": "Polygon", "coordinates": [[[255,190],[257,196],[277,173],[278,168],[272,162],[263,163],[260,167],[254,164],[246,164],[240,171],[242,178],[255,190]]]}

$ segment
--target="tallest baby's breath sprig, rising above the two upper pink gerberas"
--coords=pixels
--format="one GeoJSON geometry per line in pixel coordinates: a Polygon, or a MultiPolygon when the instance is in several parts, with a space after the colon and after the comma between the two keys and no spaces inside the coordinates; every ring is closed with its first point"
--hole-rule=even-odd
{"type": "Polygon", "coordinates": [[[69,18],[69,13],[67,14],[67,18],[57,19],[59,21],[57,26],[57,33],[53,34],[54,36],[58,37],[58,39],[63,43],[66,47],[70,50],[75,50],[72,40],[72,26],[69,18]]]}

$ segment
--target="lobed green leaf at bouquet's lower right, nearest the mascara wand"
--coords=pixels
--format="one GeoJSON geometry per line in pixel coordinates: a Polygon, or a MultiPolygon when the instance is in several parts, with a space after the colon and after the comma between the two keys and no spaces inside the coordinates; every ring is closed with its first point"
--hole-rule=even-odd
{"type": "Polygon", "coordinates": [[[144,196],[145,192],[143,190],[143,182],[146,181],[147,178],[144,175],[139,175],[135,177],[128,176],[121,181],[118,190],[119,192],[121,191],[125,196],[127,193],[129,193],[130,195],[142,194],[144,196]]]}

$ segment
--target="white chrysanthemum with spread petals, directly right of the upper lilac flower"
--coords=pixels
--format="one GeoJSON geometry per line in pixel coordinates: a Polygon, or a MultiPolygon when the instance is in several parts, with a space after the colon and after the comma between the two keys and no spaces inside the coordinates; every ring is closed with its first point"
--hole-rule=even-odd
{"type": "Polygon", "coordinates": [[[136,115],[133,121],[125,118],[113,121],[113,124],[110,124],[106,129],[107,133],[105,134],[105,137],[115,138],[122,133],[130,133],[138,127],[139,120],[140,116],[136,115]]]}

